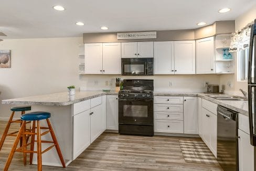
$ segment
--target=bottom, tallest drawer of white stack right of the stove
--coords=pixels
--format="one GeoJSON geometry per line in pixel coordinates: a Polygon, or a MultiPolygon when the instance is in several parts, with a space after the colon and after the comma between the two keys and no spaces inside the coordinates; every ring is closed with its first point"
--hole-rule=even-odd
{"type": "Polygon", "coordinates": [[[155,120],[155,132],[184,133],[183,121],[178,120],[155,120]]]}

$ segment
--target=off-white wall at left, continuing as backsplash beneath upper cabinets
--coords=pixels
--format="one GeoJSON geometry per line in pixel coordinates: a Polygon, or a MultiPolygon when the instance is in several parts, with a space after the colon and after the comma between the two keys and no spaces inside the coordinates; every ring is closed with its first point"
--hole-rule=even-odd
{"type": "MultiPolygon", "coordinates": [[[[0,42],[0,49],[11,50],[11,68],[0,68],[0,100],[63,92],[71,84],[89,90],[114,89],[114,84],[105,86],[105,81],[114,81],[115,77],[121,76],[84,75],[79,79],[77,55],[81,43],[82,37],[6,39],[0,42]]],[[[205,81],[220,83],[220,76],[214,74],[121,78],[154,79],[156,91],[204,92],[205,81]],[[172,81],[172,87],[169,87],[169,81],[172,81]]],[[[10,106],[0,104],[0,120],[9,117],[10,106]]]]}

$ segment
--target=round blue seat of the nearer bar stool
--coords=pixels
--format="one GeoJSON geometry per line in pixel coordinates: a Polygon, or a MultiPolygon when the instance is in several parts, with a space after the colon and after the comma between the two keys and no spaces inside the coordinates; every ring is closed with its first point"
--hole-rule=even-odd
{"type": "Polygon", "coordinates": [[[51,117],[49,112],[30,112],[20,116],[23,121],[39,121],[51,117]]]}

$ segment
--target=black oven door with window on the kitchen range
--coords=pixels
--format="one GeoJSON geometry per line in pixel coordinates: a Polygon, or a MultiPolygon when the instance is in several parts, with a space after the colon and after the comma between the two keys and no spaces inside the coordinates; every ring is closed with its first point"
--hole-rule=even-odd
{"type": "Polygon", "coordinates": [[[119,124],[153,125],[153,99],[119,99],[119,124]]]}

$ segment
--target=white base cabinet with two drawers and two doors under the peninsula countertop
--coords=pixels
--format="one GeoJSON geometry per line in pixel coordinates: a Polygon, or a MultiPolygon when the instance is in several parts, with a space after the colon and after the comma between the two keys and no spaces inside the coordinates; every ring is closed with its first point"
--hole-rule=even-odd
{"type": "Polygon", "coordinates": [[[102,125],[104,124],[102,117],[105,118],[103,111],[105,100],[102,100],[104,97],[73,104],[73,160],[105,131],[102,125]]]}

